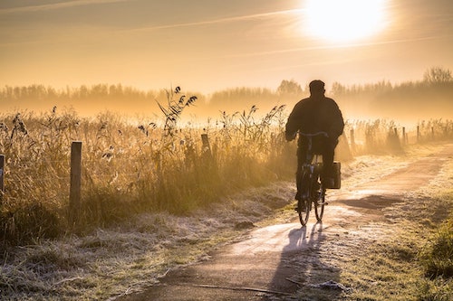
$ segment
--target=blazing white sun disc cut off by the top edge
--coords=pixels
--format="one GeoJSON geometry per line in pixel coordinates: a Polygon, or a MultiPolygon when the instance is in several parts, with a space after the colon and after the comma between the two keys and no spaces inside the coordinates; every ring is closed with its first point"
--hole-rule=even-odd
{"type": "Polygon", "coordinates": [[[306,0],[304,31],[330,42],[350,42],[385,27],[387,0],[306,0]]]}

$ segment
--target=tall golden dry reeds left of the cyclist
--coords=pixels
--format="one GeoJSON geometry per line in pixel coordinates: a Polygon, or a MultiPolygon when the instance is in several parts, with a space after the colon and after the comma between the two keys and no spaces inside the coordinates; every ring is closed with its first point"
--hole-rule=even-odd
{"type": "Polygon", "coordinates": [[[160,126],[156,120],[131,125],[108,112],[85,119],[58,108],[0,117],[2,240],[20,244],[80,233],[137,212],[186,214],[227,192],[293,175],[294,146],[281,135],[284,107],[256,120],[252,108],[224,113],[206,127],[180,128],[182,109],[196,98],[176,94],[161,107],[160,126]],[[82,202],[74,222],[68,203],[72,141],[82,141],[82,202]]]}

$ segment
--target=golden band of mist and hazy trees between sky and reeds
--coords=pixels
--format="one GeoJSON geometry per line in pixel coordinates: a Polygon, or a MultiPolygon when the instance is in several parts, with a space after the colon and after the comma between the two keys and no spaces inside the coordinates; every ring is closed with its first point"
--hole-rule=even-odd
{"type": "MultiPolygon", "coordinates": [[[[192,87],[181,87],[181,96],[196,96],[197,103],[187,110],[182,120],[203,126],[222,114],[234,115],[254,107],[256,116],[262,117],[275,106],[285,106],[289,114],[294,104],[309,96],[308,83],[282,80],[276,89],[236,87],[203,94],[192,87]]],[[[335,99],[346,120],[389,119],[414,125],[420,120],[453,118],[453,78],[451,71],[433,67],[426,71],[423,80],[391,83],[379,81],[365,85],[326,83],[326,96],[335,99]]],[[[159,123],[159,104],[166,104],[169,91],[140,90],[121,84],[54,89],[43,85],[0,88],[0,106],[3,112],[40,114],[53,107],[74,110],[81,117],[95,117],[109,111],[123,118],[146,119],[159,123]]],[[[196,87],[194,87],[196,88],[196,87]]]]}

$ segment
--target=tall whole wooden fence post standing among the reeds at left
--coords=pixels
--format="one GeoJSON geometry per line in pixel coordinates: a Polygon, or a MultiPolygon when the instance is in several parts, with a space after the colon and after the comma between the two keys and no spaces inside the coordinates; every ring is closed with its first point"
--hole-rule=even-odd
{"type": "Polygon", "coordinates": [[[73,141],[71,146],[71,185],[69,193],[69,221],[74,225],[79,218],[82,185],[82,142],[73,141]]]}

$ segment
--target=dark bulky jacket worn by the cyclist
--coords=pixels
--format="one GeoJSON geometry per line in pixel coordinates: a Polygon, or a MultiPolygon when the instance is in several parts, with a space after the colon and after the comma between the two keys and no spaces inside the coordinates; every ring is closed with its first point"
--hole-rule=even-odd
{"type": "MultiPolygon", "coordinates": [[[[342,111],[333,99],[310,97],[295,104],[286,123],[285,136],[294,139],[297,131],[303,133],[326,132],[330,140],[337,140],[344,128],[342,111]]],[[[299,142],[301,137],[299,136],[299,142]]]]}

